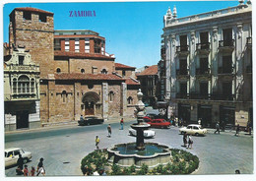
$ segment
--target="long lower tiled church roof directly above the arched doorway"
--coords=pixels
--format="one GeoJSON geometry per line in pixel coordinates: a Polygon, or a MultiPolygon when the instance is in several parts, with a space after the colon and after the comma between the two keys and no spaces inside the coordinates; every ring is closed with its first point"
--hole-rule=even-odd
{"type": "Polygon", "coordinates": [[[60,73],[54,74],[56,80],[114,80],[114,81],[125,81],[112,74],[82,74],[82,73],[60,73]]]}

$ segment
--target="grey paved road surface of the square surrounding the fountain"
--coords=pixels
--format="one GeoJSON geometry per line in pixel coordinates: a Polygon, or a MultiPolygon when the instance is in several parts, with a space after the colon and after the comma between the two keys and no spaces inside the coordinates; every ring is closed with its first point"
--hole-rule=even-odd
{"type": "MultiPolygon", "coordinates": [[[[95,137],[99,136],[99,148],[104,149],[118,143],[135,142],[135,137],[128,135],[130,124],[125,122],[124,130],[120,130],[119,123],[112,123],[112,137],[106,137],[107,123],[101,125],[78,126],[71,125],[65,128],[36,130],[29,133],[7,134],[5,147],[23,148],[32,151],[32,161],[29,168],[36,166],[40,157],[44,158],[46,175],[48,176],[77,176],[82,175],[80,170],[81,159],[96,149],[95,137]]],[[[155,139],[145,142],[158,142],[170,148],[183,149],[182,135],[177,127],[170,129],[154,129],[155,139]]],[[[214,134],[210,130],[206,137],[193,137],[192,150],[198,155],[199,169],[193,174],[233,174],[236,169],[241,173],[253,172],[253,138],[241,133],[235,137],[233,132],[226,131],[214,134]]],[[[5,170],[6,176],[16,176],[16,167],[5,170]]]]}

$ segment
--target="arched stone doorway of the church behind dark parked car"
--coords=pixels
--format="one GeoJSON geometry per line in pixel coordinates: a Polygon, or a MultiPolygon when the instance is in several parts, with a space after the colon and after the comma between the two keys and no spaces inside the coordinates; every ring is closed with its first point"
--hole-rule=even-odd
{"type": "Polygon", "coordinates": [[[99,95],[94,91],[89,91],[82,97],[85,105],[85,115],[95,115],[96,102],[100,100],[99,95]]]}

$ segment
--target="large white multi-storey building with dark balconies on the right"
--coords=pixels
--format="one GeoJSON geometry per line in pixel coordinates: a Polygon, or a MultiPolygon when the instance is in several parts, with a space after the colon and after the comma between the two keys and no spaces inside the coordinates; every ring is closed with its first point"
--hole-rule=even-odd
{"type": "Polygon", "coordinates": [[[187,123],[252,121],[252,6],[163,17],[165,101],[187,123]]]}

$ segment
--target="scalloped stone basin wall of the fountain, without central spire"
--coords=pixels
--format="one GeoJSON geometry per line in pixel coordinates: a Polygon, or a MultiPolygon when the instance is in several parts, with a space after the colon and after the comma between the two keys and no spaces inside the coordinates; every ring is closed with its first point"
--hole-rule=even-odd
{"type": "MultiPolygon", "coordinates": [[[[129,167],[135,165],[137,168],[141,167],[143,164],[149,166],[149,168],[154,168],[159,164],[167,164],[170,161],[171,151],[167,146],[160,145],[158,143],[146,143],[145,146],[157,147],[161,152],[155,152],[150,155],[140,155],[135,149],[136,143],[118,144],[112,148],[108,148],[108,161],[115,163],[122,167],[129,167]],[[133,147],[135,153],[121,153],[118,151],[119,148],[133,147]]],[[[147,150],[147,149],[146,149],[147,150]]]]}

